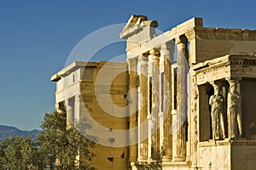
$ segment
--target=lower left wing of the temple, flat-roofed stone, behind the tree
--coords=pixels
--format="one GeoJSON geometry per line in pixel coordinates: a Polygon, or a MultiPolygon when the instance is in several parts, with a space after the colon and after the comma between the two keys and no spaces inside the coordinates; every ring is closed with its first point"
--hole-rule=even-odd
{"type": "Polygon", "coordinates": [[[96,154],[92,166],[99,170],[128,168],[128,136],[124,133],[121,139],[126,143],[116,147],[115,141],[120,137],[112,135],[113,131],[128,128],[128,110],[125,109],[128,105],[127,65],[121,62],[75,62],[54,77],[59,77],[56,79],[56,103],[65,104],[67,125],[90,116],[90,134],[100,143],[91,150],[96,154]],[[73,99],[72,104],[67,102],[70,99],[73,99]],[[99,125],[102,133],[98,132],[101,130],[99,125]]]}

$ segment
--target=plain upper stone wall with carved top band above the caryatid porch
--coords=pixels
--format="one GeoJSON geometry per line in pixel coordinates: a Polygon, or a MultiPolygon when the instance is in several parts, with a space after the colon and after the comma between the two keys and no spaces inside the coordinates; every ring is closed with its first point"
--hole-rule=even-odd
{"type": "Polygon", "coordinates": [[[224,28],[195,28],[195,62],[226,54],[255,54],[256,31],[224,28]]]}

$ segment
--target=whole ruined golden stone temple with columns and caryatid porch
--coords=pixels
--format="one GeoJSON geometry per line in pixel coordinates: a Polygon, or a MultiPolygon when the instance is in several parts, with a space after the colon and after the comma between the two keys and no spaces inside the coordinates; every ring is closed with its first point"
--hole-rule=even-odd
{"type": "MultiPolygon", "coordinates": [[[[119,168],[101,165],[99,169],[256,168],[256,31],[204,27],[201,18],[160,35],[157,26],[156,20],[143,15],[132,15],[128,20],[119,35],[126,39],[127,62],[111,65],[123,74],[116,74],[112,90],[102,91],[112,95],[110,100],[102,95],[96,101],[96,74],[90,85],[81,73],[75,79],[80,85],[60,85],[65,77],[72,77],[74,65],[52,77],[57,87],[62,86],[57,88],[56,103],[64,102],[71,120],[83,114],[69,105],[77,105],[69,101],[73,97],[76,101],[79,95],[79,101],[90,107],[91,115],[103,126],[128,129],[129,133],[123,133],[127,147],[102,152],[96,160],[98,164],[106,161],[109,154],[116,158],[112,166],[124,164],[119,168]],[[65,97],[60,97],[63,93],[65,97]],[[126,117],[114,118],[110,114],[113,110],[96,109],[102,106],[96,104],[101,99],[108,105],[125,107],[117,112],[123,111],[126,117]],[[102,119],[107,113],[113,119],[102,119]],[[108,122],[114,123],[108,126],[108,122]],[[119,161],[120,150],[125,153],[123,161],[119,161]]],[[[118,141],[120,136],[113,139],[118,141]]]]}

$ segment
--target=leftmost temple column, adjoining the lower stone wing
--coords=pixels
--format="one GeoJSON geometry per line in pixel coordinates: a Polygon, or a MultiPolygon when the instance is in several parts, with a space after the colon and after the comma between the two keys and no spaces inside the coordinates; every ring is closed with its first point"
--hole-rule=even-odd
{"type": "MultiPolygon", "coordinates": [[[[129,128],[137,127],[137,58],[127,59],[129,65],[129,128]]],[[[134,133],[131,133],[134,132],[134,133]]],[[[129,134],[130,161],[137,161],[137,133],[129,134]]]]}

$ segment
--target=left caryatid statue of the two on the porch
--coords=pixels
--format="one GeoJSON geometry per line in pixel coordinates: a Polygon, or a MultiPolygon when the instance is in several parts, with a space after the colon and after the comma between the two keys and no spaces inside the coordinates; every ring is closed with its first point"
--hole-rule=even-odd
{"type": "Polygon", "coordinates": [[[210,97],[209,105],[212,106],[212,139],[224,139],[224,97],[220,94],[218,84],[212,83],[214,95],[210,97]]]}

